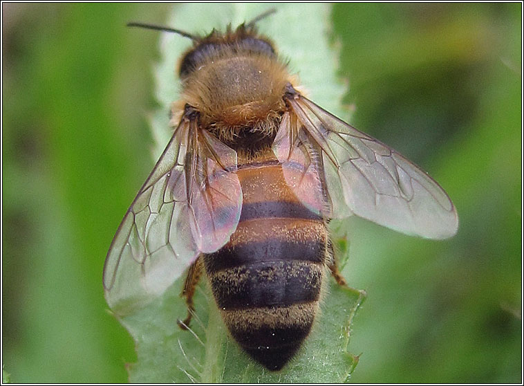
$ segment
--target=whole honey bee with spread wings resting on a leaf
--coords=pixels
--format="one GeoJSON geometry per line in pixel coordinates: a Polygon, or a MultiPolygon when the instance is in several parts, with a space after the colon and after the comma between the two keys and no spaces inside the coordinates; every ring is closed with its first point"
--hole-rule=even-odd
{"type": "Polygon", "coordinates": [[[122,310],[187,273],[187,328],[205,275],[231,336],[277,371],[308,336],[326,275],[346,285],[330,219],[445,239],[458,217],[422,169],[298,91],[256,30],[269,13],[207,36],[133,24],[194,45],[180,62],[174,134],[113,238],[104,289],[122,310]]]}

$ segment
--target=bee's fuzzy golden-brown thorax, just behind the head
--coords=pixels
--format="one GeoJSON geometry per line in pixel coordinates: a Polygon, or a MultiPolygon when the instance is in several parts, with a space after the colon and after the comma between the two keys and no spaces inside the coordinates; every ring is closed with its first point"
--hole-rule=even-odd
{"type": "Polygon", "coordinates": [[[287,82],[286,67],[275,57],[212,57],[187,77],[183,97],[200,112],[203,127],[218,138],[232,138],[245,127],[274,129],[287,82]]]}

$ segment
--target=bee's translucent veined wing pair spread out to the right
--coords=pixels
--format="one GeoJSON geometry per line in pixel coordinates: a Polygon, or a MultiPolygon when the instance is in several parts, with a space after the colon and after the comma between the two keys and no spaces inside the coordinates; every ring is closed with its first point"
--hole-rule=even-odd
{"type": "MultiPolygon", "coordinates": [[[[281,121],[273,149],[283,164],[318,166],[322,183],[316,189],[324,186],[328,217],[356,214],[430,239],[455,235],[456,209],[426,172],[307,98],[295,95],[288,102],[291,109],[281,121]]],[[[305,168],[304,175],[308,173],[313,172],[305,168]]]]}

